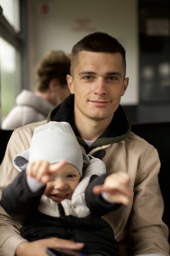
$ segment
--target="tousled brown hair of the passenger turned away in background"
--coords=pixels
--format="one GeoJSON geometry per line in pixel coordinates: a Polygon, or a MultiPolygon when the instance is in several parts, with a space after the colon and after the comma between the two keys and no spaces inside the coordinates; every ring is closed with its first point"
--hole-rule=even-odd
{"type": "Polygon", "coordinates": [[[70,74],[70,57],[63,51],[50,51],[37,65],[36,90],[47,91],[52,79],[58,79],[60,85],[65,86],[67,74],[70,74]]]}

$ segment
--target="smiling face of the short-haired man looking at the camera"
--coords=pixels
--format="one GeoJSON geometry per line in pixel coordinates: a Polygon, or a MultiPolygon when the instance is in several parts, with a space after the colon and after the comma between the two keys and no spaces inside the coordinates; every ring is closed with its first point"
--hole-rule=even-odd
{"type": "Polygon", "coordinates": [[[124,79],[120,53],[79,52],[74,77],[67,75],[69,89],[75,96],[75,118],[111,122],[128,81],[124,79]]]}

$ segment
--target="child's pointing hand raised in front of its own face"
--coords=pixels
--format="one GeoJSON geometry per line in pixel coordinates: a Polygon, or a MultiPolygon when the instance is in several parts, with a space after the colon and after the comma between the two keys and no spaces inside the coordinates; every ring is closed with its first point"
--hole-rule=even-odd
{"type": "Polygon", "coordinates": [[[48,161],[37,160],[27,165],[26,174],[34,177],[39,182],[47,183],[53,180],[54,174],[60,171],[65,165],[65,160],[52,164],[48,161]]]}

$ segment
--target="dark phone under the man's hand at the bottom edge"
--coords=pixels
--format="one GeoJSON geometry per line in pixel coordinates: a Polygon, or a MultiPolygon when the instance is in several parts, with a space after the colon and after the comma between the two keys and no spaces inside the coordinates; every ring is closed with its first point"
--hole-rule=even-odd
{"type": "Polygon", "coordinates": [[[47,249],[47,253],[49,256],[105,256],[107,254],[98,253],[98,252],[81,252],[81,251],[73,251],[68,249],[47,249]]]}

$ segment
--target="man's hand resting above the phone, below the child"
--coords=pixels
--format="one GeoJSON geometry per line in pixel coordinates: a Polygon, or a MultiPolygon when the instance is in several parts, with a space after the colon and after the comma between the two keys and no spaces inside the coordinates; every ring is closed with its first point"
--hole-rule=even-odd
{"type": "Polygon", "coordinates": [[[48,256],[47,248],[65,248],[72,250],[81,250],[83,243],[75,243],[71,240],[60,238],[46,238],[34,242],[22,242],[16,249],[16,256],[48,256]]]}

